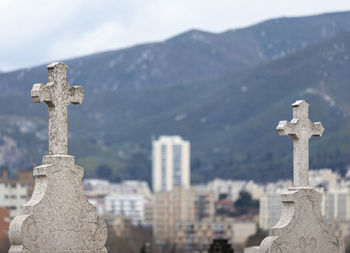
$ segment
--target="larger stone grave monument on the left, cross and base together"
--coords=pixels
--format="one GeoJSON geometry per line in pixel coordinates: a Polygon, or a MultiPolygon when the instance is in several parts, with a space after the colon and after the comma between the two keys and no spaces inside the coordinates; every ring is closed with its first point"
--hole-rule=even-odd
{"type": "Polygon", "coordinates": [[[34,102],[49,107],[49,155],[34,168],[35,188],[23,215],[10,225],[10,253],[105,253],[107,228],[82,188],[84,169],[67,155],[67,106],[80,104],[81,87],[66,81],[67,66],[48,66],[49,82],[34,84],[34,102]]]}

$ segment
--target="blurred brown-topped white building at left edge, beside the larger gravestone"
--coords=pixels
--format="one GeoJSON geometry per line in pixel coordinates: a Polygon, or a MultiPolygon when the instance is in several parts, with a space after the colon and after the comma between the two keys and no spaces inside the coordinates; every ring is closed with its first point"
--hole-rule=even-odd
{"type": "Polygon", "coordinates": [[[21,215],[21,206],[33,193],[34,180],[32,171],[18,171],[16,179],[8,178],[3,170],[0,178],[0,206],[10,211],[10,217],[21,215]]]}

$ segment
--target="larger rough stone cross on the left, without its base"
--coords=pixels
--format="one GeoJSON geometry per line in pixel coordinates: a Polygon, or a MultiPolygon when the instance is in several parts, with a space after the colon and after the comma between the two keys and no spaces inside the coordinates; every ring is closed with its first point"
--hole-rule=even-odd
{"type": "Polygon", "coordinates": [[[31,95],[35,103],[46,102],[49,107],[49,155],[68,153],[67,107],[81,104],[84,92],[80,86],[67,83],[67,66],[62,62],[47,66],[48,83],[34,84],[31,95]]]}

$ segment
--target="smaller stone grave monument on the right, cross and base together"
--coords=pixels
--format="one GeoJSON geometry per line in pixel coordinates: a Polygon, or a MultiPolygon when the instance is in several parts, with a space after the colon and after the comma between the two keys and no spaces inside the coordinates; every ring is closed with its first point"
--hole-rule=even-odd
{"type": "Polygon", "coordinates": [[[343,243],[322,216],[322,194],[308,182],[308,141],[312,135],[322,135],[324,129],[321,123],[310,122],[305,101],[299,100],[292,106],[292,122],[281,121],[277,130],[294,140],[295,186],[281,194],[282,217],[271,229],[270,236],[262,241],[259,252],[344,253],[343,243]]]}

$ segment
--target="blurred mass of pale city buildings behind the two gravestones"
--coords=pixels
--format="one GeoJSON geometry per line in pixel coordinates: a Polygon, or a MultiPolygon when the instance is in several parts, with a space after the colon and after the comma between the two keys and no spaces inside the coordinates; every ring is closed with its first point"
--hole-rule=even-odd
{"type": "MultiPolygon", "coordinates": [[[[292,186],[290,180],[261,184],[216,178],[190,185],[189,141],[161,136],[152,147],[154,191],[139,180],[83,180],[88,200],[118,240],[124,238],[125,243],[137,235],[139,247],[147,245],[152,252],[204,252],[213,239],[227,239],[243,248],[279,220],[280,193],[292,186]]],[[[324,215],[345,240],[350,236],[349,176],[331,169],[310,171],[311,185],[323,194],[324,215]]],[[[10,219],[20,213],[33,191],[32,172],[19,171],[9,178],[3,169],[0,189],[0,239],[4,240],[10,219]]]]}

